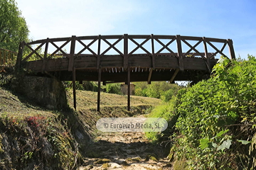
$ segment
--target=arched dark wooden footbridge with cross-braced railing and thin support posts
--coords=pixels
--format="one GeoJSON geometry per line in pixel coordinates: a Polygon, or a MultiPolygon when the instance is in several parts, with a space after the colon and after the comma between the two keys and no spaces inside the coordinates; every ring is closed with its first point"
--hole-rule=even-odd
{"type": "Polygon", "coordinates": [[[126,82],[129,111],[131,81],[200,81],[209,77],[217,55],[234,59],[233,41],[181,35],[72,36],[21,42],[16,70],[73,81],[75,108],[75,81],[98,81],[98,111],[101,82],[126,82]]]}

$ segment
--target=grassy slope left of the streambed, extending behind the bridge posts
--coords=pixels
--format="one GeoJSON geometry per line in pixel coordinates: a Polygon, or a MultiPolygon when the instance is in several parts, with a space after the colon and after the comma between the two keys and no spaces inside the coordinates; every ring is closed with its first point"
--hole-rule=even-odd
{"type": "MultiPolygon", "coordinates": [[[[67,94],[73,106],[71,91],[67,94]]],[[[99,118],[149,113],[161,103],[157,98],[132,96],[131,111],[126,111],[127,96],[102,92],[101,99],[100,113],[97,93],[92,91],[77,91],[78,111],[50,111],[0,87],[1,169],[78,168],[92,155],[88,147],[94,138],[102,134],[95,128],[99,118]]]]}

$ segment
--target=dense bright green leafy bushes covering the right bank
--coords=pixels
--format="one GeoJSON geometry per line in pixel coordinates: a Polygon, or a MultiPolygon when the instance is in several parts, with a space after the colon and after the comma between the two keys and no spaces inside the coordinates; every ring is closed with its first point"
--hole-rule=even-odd
{"type": "Polygon", "coordinates": [[[252,56],[222,58],[212,79],[178,94],[176,154],[185,157],[191,169],[247,169],[251,164],[245,147],[255,133],[255,68],[252,56]]]}

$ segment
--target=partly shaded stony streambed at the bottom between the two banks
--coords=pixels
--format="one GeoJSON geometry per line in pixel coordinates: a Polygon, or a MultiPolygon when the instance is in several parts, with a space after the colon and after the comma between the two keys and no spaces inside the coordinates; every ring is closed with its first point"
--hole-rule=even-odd
{"type": "Polygon", "coordinates": [[[105,132],[87,150],[79,169],[172,169],[169,149],[152,145],[144,132],[105,132]]]}

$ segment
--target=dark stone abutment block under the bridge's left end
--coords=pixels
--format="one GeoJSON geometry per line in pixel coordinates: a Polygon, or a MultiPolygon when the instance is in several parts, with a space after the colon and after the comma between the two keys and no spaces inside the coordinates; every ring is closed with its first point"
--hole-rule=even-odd
{"type": "Polygon", "coordinates": [[[63,110],[68,107],[65,88],[57,79],[21,76],[11,80],[11,88],[48,109],[63,110]]]}

